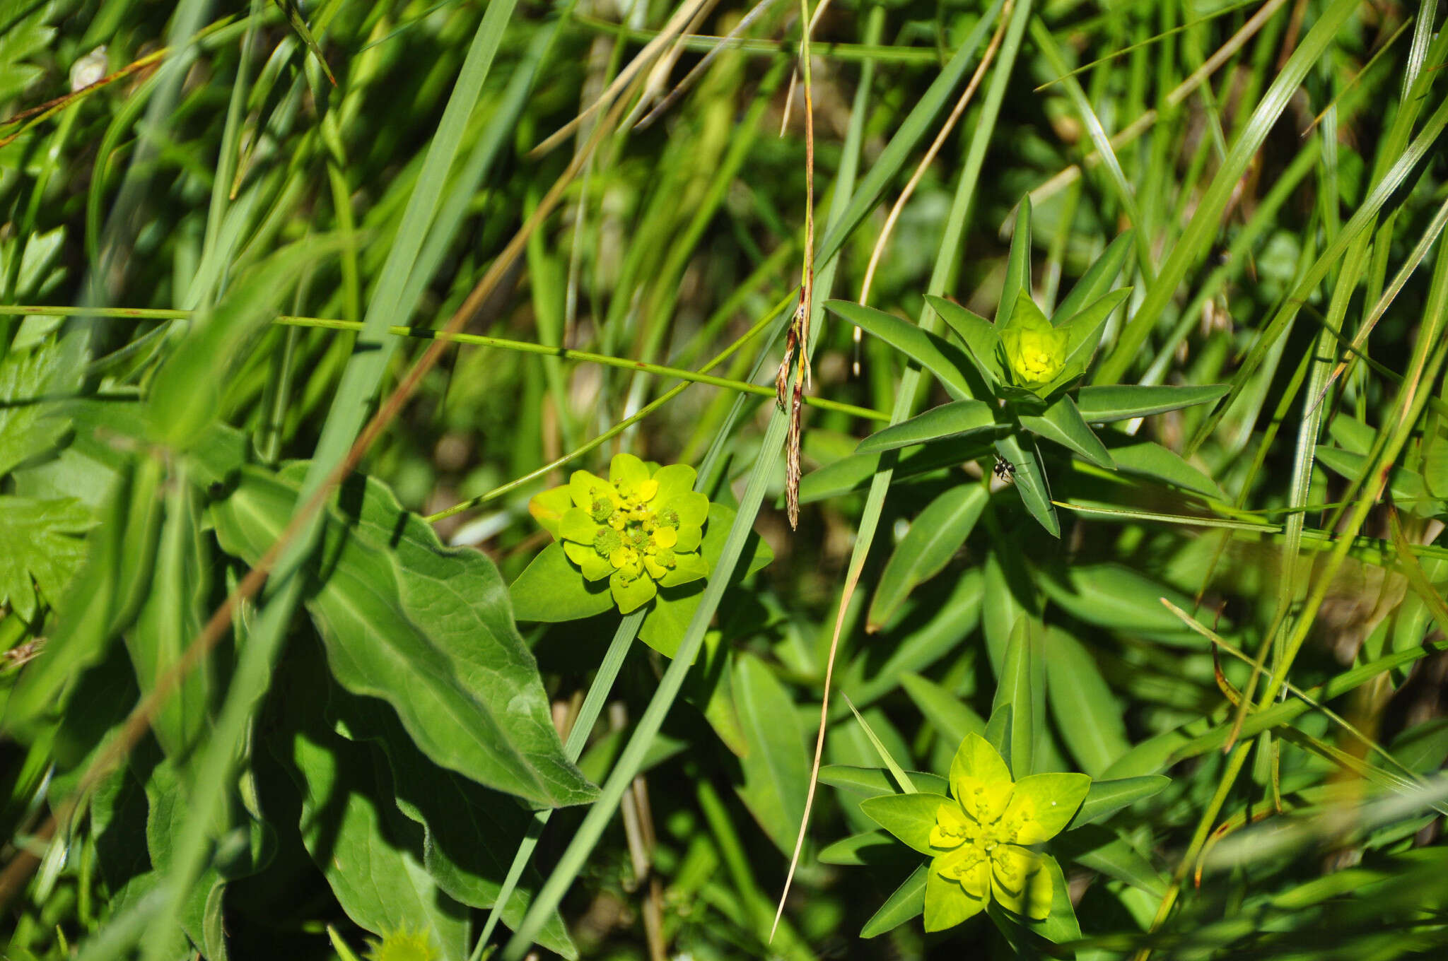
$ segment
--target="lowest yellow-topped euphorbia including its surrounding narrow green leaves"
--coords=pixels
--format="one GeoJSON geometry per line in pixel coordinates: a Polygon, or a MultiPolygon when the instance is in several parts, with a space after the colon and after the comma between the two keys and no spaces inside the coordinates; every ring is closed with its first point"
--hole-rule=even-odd
{"type": "MultiPolygon", "coordinates": [[[[1008,938],[1022,928],[1054,942],[1079,939],[1061,865],[1043,844],[1083,828],[1161,790],[1166,777],[1092,780],[1073,771],[1038,771],[1032,690],[1032,648],[1043,625],[1031,615],[1016,619],[1003,651],[999,686],[983,732],[969,732],[950,763],[948,777],[889,766],[828,766],[820,780],[864,795],[860,812],[895,841],[925,855],[866,922],[873,938],[924,913],[925,931],[944,931],[986,912],[1008,938]],[[893,784],[892,784],[893,782],[893,784]]],[[[883,755],[883,748],[882,748],[883,755]]],[[[1102,835],[1098,831],[1098,837],[1102,835]]],[[[867,831],[820,852],[828,864],[883,864],[888,838],[867,831]],[[870,851],[870,857],[863,857],[870,851]]],[[[1063,845],[1090,865],[1096,844],[1063,845]]]]}

